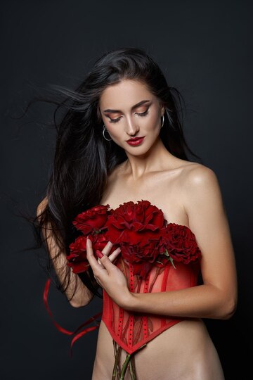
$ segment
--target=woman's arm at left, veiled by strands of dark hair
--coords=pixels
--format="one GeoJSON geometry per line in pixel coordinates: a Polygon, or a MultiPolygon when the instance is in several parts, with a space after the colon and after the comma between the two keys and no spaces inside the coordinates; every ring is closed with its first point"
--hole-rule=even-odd
{"type": "MultiPolygon", "coordinates": [[[[47,198],[44,198],[41,203],[39,203],[37,207],[37,216],[41,214],[41,212],[44,210],[47,204],[47,198]]],[[[59,246],[56,243],[56,239],[53,238],[53,235],[51,233],[51,225],[47,224],[47,229],[44,228],[42,231],[44,239],[46,239],[46,246],[48,250],[48,254],[50,255],[51,259],[53,259],[56,254],[59,252],[59,246]]],[[[63,283],[65,279],[65,273],[66,273],[66,255],[64,252],[61,252],[58,258],[56,260],[53,260],[53,267],[56,271],[56,275],[60,281],[60,283],[63,283]]],[[[69,300],[72,297],[72,294],[74,292],[75,284],[77,283],[77,289],[74,293],[74,296],[72,300],[70,300],[70,305],[72,305],[74,308],[79,308],[80,306],[85,306],[89,302],[91,302],[93,298],[93,293],[89,291],[89,289],[84,285],[82,280],[79,278],[77,274],[74,274],[72,271],[70,272],[70,283],[67,286],[67,289],[65,291],[65,296],[69,300]]]]}

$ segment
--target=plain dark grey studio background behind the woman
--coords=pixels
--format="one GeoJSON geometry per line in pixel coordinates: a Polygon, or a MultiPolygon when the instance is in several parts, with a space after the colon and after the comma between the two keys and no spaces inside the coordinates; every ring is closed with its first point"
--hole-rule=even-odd
{"type": "MultiPolygon", "coordinates": [[[[186,139],[219,178],[238,267],[238,310],[228,321],[205,320],[226,379],[251,377],[252,355],[252,2],[1,1],[1,379],[91,379],[97,331],[74,344],[44,308],[46,274],[30,227],[44,194],[55,132],[52,108],[10,115],[41,94],[74,88],[102,53],[146,49],[186,100],[186,139]],[[22,128],[18,131],[18,127],[22,128]]],[[[222,254],[222,253],[221,253],[222,254]]],[[[51,287],[56,320],[75,329],[102,310],[101,300],[74,309],[51,287]]],[[[143,380],[143,379],[141,379],[143,380]]]]}

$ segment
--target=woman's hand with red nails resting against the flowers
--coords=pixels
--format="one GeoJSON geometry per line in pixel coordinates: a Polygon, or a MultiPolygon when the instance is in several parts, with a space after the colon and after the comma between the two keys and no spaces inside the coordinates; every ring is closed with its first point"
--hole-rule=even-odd
{"type": "MultiPolygon", "coordinates": [[[[120,250],[118,253],[119,252],[120,250]]],[[[103,255],[102,258],[99,258],[101,264],[98,263],[98,260],[93,254],[92,242],[89,238],[86,241],[86,258],[91,265],[98,284],[105,289],[108,296],[110,296],[117,305],[122,308],[126,307],[131,298],[126,277],[124,277],[122,271],[111,262],[107,255],[103,255]]]]}

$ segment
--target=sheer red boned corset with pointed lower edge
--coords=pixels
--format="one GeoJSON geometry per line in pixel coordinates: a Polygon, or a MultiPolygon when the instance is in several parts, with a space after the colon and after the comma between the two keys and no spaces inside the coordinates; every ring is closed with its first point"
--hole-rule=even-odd
{"type": "MultiPolygon", "coordinates": [[[[199,262],[184,265],[176,262],[176,269],[168,262],[164,267],[153,266],[148,276],[141,279],[133,273],[133,265],[119,255],[115,265],[124,273],[129,291],[134,293],[155,293],[188,288],[197,284],[199,262]]],[[[181,322],[183,317],[170,317],[140,312],[128,312],[120,308],[103,289],[103,314],[110,335],[127,353],[134,353],[162,331],[181,322]]]]}

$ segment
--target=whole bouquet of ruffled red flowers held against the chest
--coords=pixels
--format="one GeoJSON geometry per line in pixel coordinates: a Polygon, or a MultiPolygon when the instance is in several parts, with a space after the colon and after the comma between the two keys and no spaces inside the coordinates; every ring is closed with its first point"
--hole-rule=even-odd
{"type": "Polygon", "coordinates": [[[93,249],[102,251],[108,241],[115,249],[120,246],[124,259],[131,262],[134,274],[142,279],[153,265],[162,267],[175,262],[196,261],[200,258],[195,235],[184,225],[169,223],[162,210],[149,201],[125,202],[115,210],[110,205],[96,205],[74,218],[73,224],[81,234],[70,244],[67,265],[74,273],[89,268],[86,259],[86,236],[93,249]]]}

